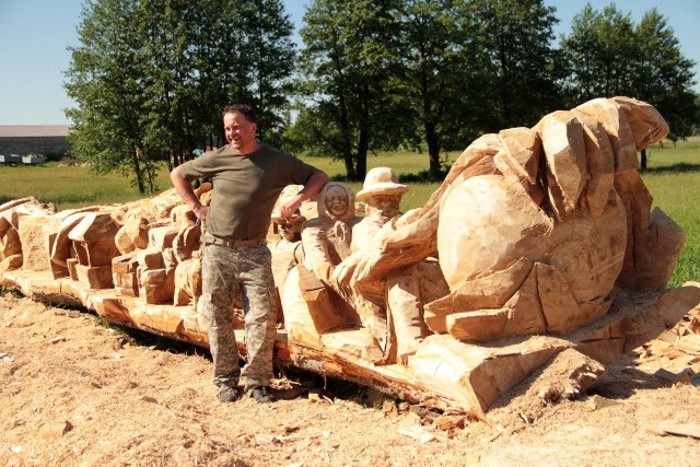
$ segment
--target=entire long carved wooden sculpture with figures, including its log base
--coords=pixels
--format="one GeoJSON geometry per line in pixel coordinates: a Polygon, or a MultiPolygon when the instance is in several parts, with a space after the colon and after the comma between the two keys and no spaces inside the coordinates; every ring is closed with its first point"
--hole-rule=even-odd
{"type": "MultiPolygon", "coordinates": [[[[667,131],[643,102],[598,98],[480,137],[405,214],[408,186],[388,167],[370,171],[357,205],[329,183],[270,229],[278,364],[482,416],[567,350],[585,388],[592,359],[609,363],[700,303],[697,283],[665,290],[684,233],[638,174],[637,152],[667,131]]],[[[201,233],[174,190],[63,212],[19,199],[0,206],[0,277],[207,346],[201,233]]]]}

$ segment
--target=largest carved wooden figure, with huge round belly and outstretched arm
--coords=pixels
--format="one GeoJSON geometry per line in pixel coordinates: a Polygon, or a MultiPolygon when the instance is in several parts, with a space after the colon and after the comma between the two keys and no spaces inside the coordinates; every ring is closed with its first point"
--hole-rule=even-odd
{"type": "Polygon", "coordinates": [[[387,224],[381,248],[336,268],[338,282],[361,289],[438,250],[451,293],[424,303],[431,331],[465,341],[574,331],[607,313],[616,281],[670,277],[682,232],[649,214],[637,172],[637,151],[667,131],[652,106],[615,97],[485,135],[423,208],[387,224]]]}

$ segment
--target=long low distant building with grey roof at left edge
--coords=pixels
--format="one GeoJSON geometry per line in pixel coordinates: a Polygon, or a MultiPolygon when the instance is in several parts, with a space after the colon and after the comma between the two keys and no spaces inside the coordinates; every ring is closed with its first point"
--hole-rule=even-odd
{"type": "Polygon", "coordinates": [[[0,154],[45,155],[58,161],[70,153],[68,125],[0,125],[0,154]]]}

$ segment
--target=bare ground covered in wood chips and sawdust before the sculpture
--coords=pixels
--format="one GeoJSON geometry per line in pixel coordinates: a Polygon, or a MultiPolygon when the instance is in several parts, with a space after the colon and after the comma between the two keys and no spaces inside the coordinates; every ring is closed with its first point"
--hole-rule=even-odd
{"type": "Polygon", "coordinates": [[[586,394],[545,401],[530,381],[475,421],[290,373],[301,395],[220,404],[203,350],[4,293],[0,465],[697,466],[697,316],[586,394]]]}

